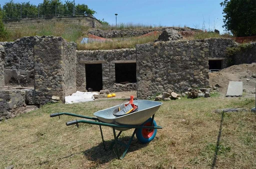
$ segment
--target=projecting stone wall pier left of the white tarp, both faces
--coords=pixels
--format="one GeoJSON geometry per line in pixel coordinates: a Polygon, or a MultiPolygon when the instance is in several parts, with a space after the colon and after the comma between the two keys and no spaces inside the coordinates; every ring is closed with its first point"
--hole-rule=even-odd
{"type": "Polygon", "coordinates": [[[75,54],[74,46],[75,43],[67,43],[61,37],[43,36],[37,39],[34,46],[34,65],[35,100],[38,104],[42,105],[52,100],[65,102],[65,92],[70,92],[70,87],[74,85],[71,82],[74,79],[70,76],[75,74],[68,71],[73,70],[75,62],[65,65],[68,61],[75,59],[72,55],[72,53],[75,54]]]}

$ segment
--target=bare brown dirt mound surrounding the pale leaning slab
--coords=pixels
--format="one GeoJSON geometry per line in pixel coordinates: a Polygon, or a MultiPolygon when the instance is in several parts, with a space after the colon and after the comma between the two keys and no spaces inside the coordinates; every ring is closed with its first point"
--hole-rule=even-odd
{"type": "Polygon", "coordinates": [[[218,84],[222,95],[226,95],[229,81],[242,81],[246,97],[253,97],[255,94],[255,73],[256,63],[233,65],[217,72],[209,73],[210,86],[218,84]]]}

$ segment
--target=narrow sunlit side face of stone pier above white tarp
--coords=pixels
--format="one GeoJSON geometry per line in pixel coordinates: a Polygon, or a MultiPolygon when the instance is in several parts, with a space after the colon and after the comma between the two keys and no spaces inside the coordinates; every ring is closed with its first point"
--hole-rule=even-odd
{"type": "Polygon", "coordinates": [[[70,95],[77,91],[76,87],[76,43],[63,41],[63,70],[65,95],[70,95]]]}

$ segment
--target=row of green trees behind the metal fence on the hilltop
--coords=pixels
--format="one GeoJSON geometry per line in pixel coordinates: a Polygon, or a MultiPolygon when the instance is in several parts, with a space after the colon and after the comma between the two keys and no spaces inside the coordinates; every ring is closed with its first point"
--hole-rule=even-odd
{"type": "MultiPolygon", "coordinates": [[[[60,15],[70,15],[73,14],[73,2],[65,1],[62,3],[60,0],[44,0],[39,4],[39,8],[36,5],[27,3],[14,3],[12,0],[6,2],[3,5],[3,17],[4,18],[19,18],[22,11],[22,16],[37,16],[46,15],[46,16],[58,16],[60,15]]],[[[93,15],[96,11],[90,9],[85,4],[75,5],[75,14],[76,15],[93,15]]]]}

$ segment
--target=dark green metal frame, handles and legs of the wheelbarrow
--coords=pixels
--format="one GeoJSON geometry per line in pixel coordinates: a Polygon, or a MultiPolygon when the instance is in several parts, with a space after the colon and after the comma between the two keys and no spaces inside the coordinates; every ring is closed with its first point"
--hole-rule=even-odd
{"type": "Polygon", "coordinates": [[[69,121],[69,122],[66,123],[67,126],[76,124],[77,127],[78,127],[78,124],[79,124],[79,123],[86,123],[86,124],[92,124],[92,125],[99,125],[99,126],[100,126],[100,133],[101,133],[101,138],[102,138],[102,143],[103,143],[104,150],[106,150],[106,151],[107,151],[107,150],[110,150],[110,149],[112,149],[113,146],[115,145],[116,156],[117,156],[117,158],[119,158],[119,159],[123,159],[124,156],[126,155],[126,153],[127,153],[128,149],[129,149],[129,147],[130,147],[130,145],[131,145],[132,139],[133,139],[133,137],[134,137],[134,135],[135,135],[137,129],[139,129],[139,128],[146,128],[146,129],[162,129],[162,128],[163,128],[163,127],[161,127],[161,126],[153,126],[153,121],[154,121],[154,116],[155,116],[155,114],[153,114],[153,116],[152,116],[152,119],[151,119],[151,126],[116,125],[116,124],[101,122],[98,118],[95,118],[95,117],[88,117],[88,116],[83,116],[83,115],[78,115],[78,114],[73,114],[73,113],[66,113],[66,112],[50,114],[50,117],[59,116],[59,118],[60,118],[60,115],[68,115],[68,116],[74,116],[74,117],[80,117],[80,118],[90,119],[90,120],[73,120],[73,121],[69,121]],[[95,120],[95,121],[91,121],[91,120],[95,120]],[[103,138],[103,132],[102,132],[101,126],[108,126],[108,127],[112,127],[112,128],[113,128],[114,141],[112,141],[112,143],[110,144],[109,148],[106,148],[105,141],[104,141],[104,138],[103,138]],[[121,135],[122,131],[119,131],[118,135],[116,135],[115,128],[128,128],[128,129],[134,128],[133,134],[132,134],[132,136],[130,137],[128,144],[126,144],[126,143],[124,143],[124,142],[118,140],[118,138],[119,138],[119,136],[121,135]],[[118,144],[120,144],[121,146],[124,146],[124,147],[125,147],[125,151],[124,151],[124,153],[122,154],[121,157],[119,157],[118,144]]]}

